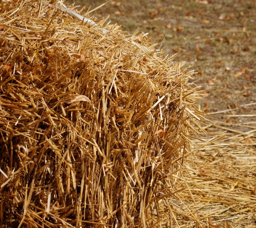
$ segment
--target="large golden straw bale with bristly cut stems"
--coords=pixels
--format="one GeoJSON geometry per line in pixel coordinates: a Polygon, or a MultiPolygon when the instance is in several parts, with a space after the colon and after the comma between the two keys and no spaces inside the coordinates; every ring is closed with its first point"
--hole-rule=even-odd
{"type": "Polygon", "coordinates": [[[201,116],[193,71],[117,25],[34,0],[2,7],[2,227],[172,224],[201,116]]]}

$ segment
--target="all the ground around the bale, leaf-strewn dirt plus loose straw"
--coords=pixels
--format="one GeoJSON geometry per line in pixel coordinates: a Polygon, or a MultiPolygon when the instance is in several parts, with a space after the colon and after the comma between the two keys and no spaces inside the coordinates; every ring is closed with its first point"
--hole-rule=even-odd
{"type": "MultiPolygon", "coordinates": [[[[102,3],[76,1],[85,10],[102,3]]],[[[193,65],[201,108],[216,125],[195,143],[226,135],[186,162],[170,227],[256,227],[256,0],[116,0],[93,14],[130,34],[139,28],[177,53],[176,63],[193,65]]]]}

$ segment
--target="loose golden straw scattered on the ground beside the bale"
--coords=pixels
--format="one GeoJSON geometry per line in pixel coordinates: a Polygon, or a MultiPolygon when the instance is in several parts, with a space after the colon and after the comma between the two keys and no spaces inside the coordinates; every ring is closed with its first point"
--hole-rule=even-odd
{"type": "Polygon", "coordinates": [[[179,182],[185,190],[173,211],[180,213],[177,222],[185,227],[245,227],[253,228],[256,222],[256,125],[215,121],[216,127],[201,136],[205,145],[194,154],[194,159],[185,159],[186,172],[179,182]],[[225,127],[228,126],[228,127],[225,127]],[[220,130],[221,129],[221,130],[220,130]],[[206,142],[217,137],[221,140],[209,145],[206,142]],[[186,207],[191,213],[184,211],[186,207]],[[188,220],[188,218],[190,220],[188,220]],[[195,220],[195,219],[194,219],[195,220]]]}

